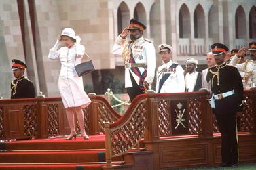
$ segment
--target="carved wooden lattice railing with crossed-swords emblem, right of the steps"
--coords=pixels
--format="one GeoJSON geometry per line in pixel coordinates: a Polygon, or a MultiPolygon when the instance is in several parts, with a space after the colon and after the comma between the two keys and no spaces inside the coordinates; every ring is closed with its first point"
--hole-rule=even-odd
{"type": "MultiPolygon", "coordinates": [[[[206,91],[137,96],[120,120],[105,123],[107,167],[141,137],[151,143],[161,137],[213,137],[217,123],[206,99],[206,91]]],[[[238,120],[238,131],[256,134],[256,90],[244,91],[244,114],[238,120]]]]}

